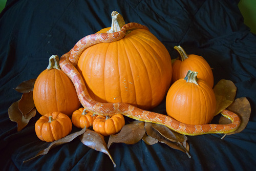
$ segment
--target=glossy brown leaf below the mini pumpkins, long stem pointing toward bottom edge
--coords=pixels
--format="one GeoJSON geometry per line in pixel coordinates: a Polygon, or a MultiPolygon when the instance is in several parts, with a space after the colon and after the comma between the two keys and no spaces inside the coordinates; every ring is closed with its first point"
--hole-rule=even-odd
{"type": "Polygon", "coordinates": [[[96,151],[105,153],[106,155],[108,155],[110,157],[110,159],[112,160],[114,167],[116,167],[116,163],[114,162],[113,158],[111,157],[109,150],[106,146],[105,140],[104,140],[104,136],[91,131],[89,129],[86,130],[86,132],[84,132],[79,139],[81,140],[81,142],[92,148],[95,149],[96,151]]]}

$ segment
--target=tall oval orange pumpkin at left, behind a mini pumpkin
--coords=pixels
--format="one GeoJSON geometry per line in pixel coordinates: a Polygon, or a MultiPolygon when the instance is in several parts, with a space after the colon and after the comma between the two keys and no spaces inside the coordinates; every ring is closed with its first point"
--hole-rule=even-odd
{"type": "Polygon", "coordinates": [[[59,111],[70,116],[80,107],[72,81],[59,68],[58,56],[51,56],[48,68],[36,78],[33,99],[41,115],[59,111]]]}

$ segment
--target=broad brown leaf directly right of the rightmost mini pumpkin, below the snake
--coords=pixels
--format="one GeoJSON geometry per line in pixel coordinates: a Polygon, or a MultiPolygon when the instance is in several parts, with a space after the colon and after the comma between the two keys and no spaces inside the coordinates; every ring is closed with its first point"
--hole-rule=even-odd
{"type": "Polygon", "coordinates": [[[120,133],[116,135],[111,135],[108,142],[108,148],[113,143],[125,143],[125,144],[135,144],[145,134],[144,129],[145,122],[134,122],[126,124],[122,127],[120,133]]]}

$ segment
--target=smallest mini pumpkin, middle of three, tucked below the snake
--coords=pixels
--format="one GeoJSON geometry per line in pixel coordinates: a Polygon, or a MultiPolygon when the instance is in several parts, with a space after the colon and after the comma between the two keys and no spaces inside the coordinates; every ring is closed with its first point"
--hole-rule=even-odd
{"type": "Polygon", "coordinates": [[[76,127],[83,129],[84,127],[88,128],[92,126],[96,117],[97,115],[87,110],[84,111],[84,108],[80,108],[73,112],[71,121],[76,127]]]}

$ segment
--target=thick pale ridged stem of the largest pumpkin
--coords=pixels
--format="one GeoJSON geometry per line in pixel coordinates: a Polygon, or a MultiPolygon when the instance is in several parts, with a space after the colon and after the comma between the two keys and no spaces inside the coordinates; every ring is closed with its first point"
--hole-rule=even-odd
{"type": "Polygon", "coordinates": [[[122,15],[116,11],[113,11],[111,13],[111,17],[112,17],[111,29],[107,31],[107,33],[114,33],[114,32],[120,31],[121,28],[125,25],[122,15]]]}

